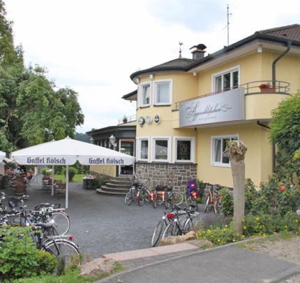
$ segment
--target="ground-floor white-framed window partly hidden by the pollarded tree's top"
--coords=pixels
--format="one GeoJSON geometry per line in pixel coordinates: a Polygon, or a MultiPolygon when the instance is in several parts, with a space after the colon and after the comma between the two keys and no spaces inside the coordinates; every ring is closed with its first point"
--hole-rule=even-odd
{"type": "Polygon", "coordinates": [[[216,136],[211,138],[211,159],[212,165],[230,167],[229,157],[224,151],[230,140],[238,140],[239,136],[216,136]]]}

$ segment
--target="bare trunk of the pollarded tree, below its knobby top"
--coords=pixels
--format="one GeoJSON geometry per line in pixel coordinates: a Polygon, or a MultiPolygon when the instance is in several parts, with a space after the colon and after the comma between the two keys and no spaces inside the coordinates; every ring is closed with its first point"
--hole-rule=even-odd
{"type": "Polygon", "coordinates": [[[243,216],[245,215],[245,163],[243,160],[231,161],[232,179],[234,186],[234,229],[243,234],[243,216]]]}

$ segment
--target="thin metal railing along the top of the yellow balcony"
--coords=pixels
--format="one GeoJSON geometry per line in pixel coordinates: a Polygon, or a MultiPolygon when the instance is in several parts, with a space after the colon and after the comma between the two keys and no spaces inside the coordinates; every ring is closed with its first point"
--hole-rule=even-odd
{"type": "MultiPolygon", "coordinates": [[[[278,93],[282,95],[290,95],[290,83],[286,81],[250,81],[249,83],[243,83],[237,88],[244,88],[245,95],[257,95],[257,94],[266,94],[266,93],[278,93]]],[[[181,102],[188,102],[194,99],[198,99],[200,97],[207,97],[209,95],[216,95],[221,92],[225,92],[228,90],[232,90],[233,88],[229,88],[227,90],[216,91],[208,93],[207,95],[201,95],[198,97],[193,97],[190,99],[182,100],[181,102]]],[[[176,102],[175,109],[173,111],[179,111],[179,103],[176,102]]]]}

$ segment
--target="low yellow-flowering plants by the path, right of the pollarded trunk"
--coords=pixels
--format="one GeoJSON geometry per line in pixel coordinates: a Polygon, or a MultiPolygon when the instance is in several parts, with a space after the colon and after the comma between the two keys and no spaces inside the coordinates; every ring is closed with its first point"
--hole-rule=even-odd
{"type": "Polygon", "coordinates": [[[296,213],[288,211],[283,216],[269,214],[255,216],[250,213],[243,219],[245,236],[266,236],[285,232],[300,234],[300,218],[296,213]]]}

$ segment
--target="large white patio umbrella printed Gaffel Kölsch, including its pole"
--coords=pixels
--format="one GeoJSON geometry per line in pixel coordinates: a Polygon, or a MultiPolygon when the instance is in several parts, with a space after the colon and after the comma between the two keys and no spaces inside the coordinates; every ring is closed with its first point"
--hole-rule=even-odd
{"type": "Polygon", "coordinates": [[[91,145],[72,138],[41,143],[11,153],[22,165],[66,165],[66,209],[68,209],[68,166],[79,161],[82,165],[132,165],[135,157],[112,149],[91,145]]]}

